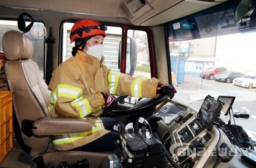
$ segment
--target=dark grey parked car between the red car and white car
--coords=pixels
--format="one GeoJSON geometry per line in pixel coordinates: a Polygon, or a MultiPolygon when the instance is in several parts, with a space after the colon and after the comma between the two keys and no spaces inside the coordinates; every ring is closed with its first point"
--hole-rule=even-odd
{"type": "Polygon", "coordinates": [[[238,71],[224,71],[223,73],[214,75],[214,79],[220,82],[227,82],[230,83],[233,81],[234,78],[239,78],[246,74],[240,73],[238,71]]]}

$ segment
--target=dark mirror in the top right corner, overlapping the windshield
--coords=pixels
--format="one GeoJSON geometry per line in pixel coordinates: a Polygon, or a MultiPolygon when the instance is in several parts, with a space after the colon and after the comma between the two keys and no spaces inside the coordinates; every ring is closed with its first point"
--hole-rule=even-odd
{"type": "Polygon", "coordinates": [[[241,0],[236,8],[235,22],[249,21],[248,19],[254,10],[254,0],[241,0]]]}

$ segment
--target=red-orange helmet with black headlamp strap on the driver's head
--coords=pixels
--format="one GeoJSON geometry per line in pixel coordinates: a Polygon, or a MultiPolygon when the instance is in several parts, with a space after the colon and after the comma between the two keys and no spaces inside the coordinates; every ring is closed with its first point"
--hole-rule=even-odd
{"type": "Polygon", "coordinates": [[[86,38],[91,35],[103,35],[106,37],[106,25],[94,20],[79,20],[74,23],[70,32],[70,43],[77,38],[86,38]]]}

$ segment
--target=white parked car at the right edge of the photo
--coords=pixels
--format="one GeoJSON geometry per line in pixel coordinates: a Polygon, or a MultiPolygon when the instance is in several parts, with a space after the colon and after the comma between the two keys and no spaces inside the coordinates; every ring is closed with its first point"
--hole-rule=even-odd
{"type": "Polygon", "coordinates": [[[233,84],[245,88],[255,88],[256,87],[256,76],[244,75],[233,80],[233,84]]]}

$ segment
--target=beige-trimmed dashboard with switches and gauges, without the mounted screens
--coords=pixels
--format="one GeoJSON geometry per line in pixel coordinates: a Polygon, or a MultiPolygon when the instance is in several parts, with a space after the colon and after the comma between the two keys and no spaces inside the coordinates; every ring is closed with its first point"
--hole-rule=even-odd
{"type": "MultiPolygon", "coordinates": [[[[209,130],[202,123],[198,118],[198,111],[193,106],[174,100],[168,100],[156,109],[156,116],[162,118],[158,122],[157,135],[180,167],[213,167],[221,143],[225,142],[233,147],[221,129],[213,126],[209,130]]],[[[219,166],[221,165],[251,167],[244,165],[238,153],[234,155],[232,162],[221,162],[219,166]]]]}

